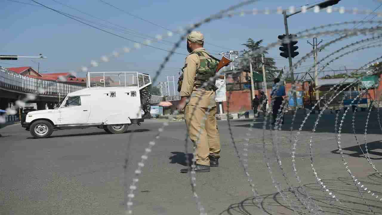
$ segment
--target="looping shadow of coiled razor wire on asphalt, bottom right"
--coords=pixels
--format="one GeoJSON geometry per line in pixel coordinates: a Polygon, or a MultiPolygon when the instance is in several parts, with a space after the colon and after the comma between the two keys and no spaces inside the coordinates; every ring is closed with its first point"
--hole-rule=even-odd
{"type": "MultiPolygon", "coordinates": [[[[375,174],[371,174],[366,178],[361,178],[359,180],[365,186],[374,186],[377,188],[382,182],[382,178],[375,174]],[[379,180],[376,181],[375,180],[379,180]]],[[[362,192],[365,200],[360,197],[358,190],[354,186],[354,182],[349,178],[337,178],[334,180],[322,180],[327,187],[330,187],[330,191],[336,195],[340,202],[329,198],[327,192],[321,191],[320,187],[316,183],[303,185],[306,192],[308,192],[312,202],[318,205],[320,212],[322,214],[380,214],[382,212],[382,207],[380,206],[379,199],[375,199],[365,192],[362,192]],[[373,212],[371,212],[371,210],[373,212]]],[[[307,195],[303,192],[301,187],[295,187],[296,193],[304,198],[304,202],[309,202],[307,195]]],[[[372,191],[377,195],[380,192],[372,191]]],[[[272,194],[261,195],[260,197],[254,198],[249,197],[241,202],[231,204],[226,210],[219,213],[219,215],[255,215],[263,214],[264,212],[269,215],[278,214],[304,214],[309,213],[305,206],[302,205],[296,198],[295,194],[291,192],[290,189],[282,190],[283,200],[279,192],[272,194]],[[292,208],[295,208],[293,212],[292,208]]],[[[310,207],[315,207],[314,204],[309,203],[310,207]]]]}

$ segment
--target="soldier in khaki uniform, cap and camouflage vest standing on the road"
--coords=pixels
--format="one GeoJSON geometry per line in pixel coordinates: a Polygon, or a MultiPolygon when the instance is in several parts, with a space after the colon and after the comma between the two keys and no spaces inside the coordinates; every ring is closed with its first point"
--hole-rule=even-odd
{"type": "MultiPolygon", "coordinates": [[[[189,137],[196,152],[196,165],[192,166],[195,172],[209,172],[210,166],[219,165],[220,158],[220,137],[215,118],[217,88],[215,81],[211,85],[203,85],[215,75],[219,60],[210,56],[203,44],[204,36],[199,31],[193,31],[187,36],[187,50],[190,54],[183,67],[183,78],[181,76],[178,83],[181,101],[177,109],[185,109],[189,137]],[[198,88],[202,90],[197,91],[198,88]]],[[[187,173],[188,169],[181,169],[181,172],[187,173]]]]}

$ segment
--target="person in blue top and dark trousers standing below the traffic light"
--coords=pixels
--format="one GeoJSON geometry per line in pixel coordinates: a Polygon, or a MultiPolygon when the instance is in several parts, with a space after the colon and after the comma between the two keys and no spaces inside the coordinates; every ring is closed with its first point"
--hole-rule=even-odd
{"type": "Polygon", "coordinates": [[[278,110],[281,108],[281,114],[282,114],[282,121],[281,124],[284,124],[284,114],[283,114],[283,96],[285,96],[285,86],[280,85],[278,86],[277,83],[280,82],[280,78],[275,78],[274,84],[272,85],[272,92],[270,93],[270,98],[273,100],[273,107],[272,107],[272,116],[273,116],[273,122],[272,125],[276,123],[276,118],[278,114],[278,110]]]}

